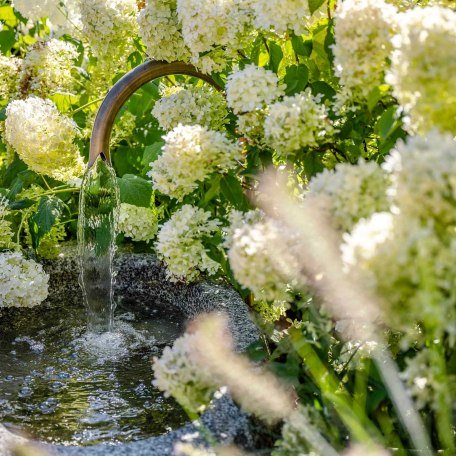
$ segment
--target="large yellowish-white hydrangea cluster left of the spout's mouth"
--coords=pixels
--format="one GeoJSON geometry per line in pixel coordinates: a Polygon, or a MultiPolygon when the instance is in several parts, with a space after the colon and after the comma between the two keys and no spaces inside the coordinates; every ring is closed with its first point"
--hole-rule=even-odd
{"type": "Polygon", "coordinates": [[[6,109],[5,139],[33,171],[66,182],[79,177],[84,162],[73,143],[76,124],[49,100],[29,97],[6,109]]]}

